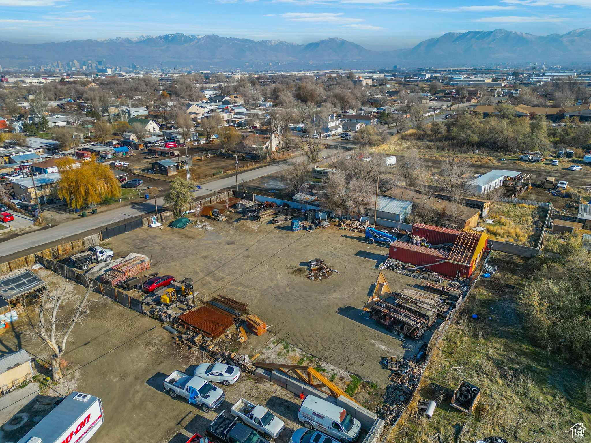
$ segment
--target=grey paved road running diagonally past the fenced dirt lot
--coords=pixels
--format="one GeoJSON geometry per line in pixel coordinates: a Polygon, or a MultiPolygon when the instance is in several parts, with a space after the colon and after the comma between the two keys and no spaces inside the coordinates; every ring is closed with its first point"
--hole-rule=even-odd
{"type": "MultiPolygon", "coordinates": [[[[341,145],[335,141],[330,143],[334,145],[341,145]]],[[[338,151],[338,146],[335,148],[324,149],[324,156],[335,154],[338,151]]],[[[238,183],[242,180],[249,181],[255,178],[264,177],[265,175],[273,174],[281,169],[281,164],[272,164],[255,170],[249,170],[238,174],[238,183]]],[[[232,187],[236,184],[236,177],[225,177],[219,180],[210,181],[203,185],[203,188],[196,191],[195,197],[206,196],[211,194],[212,191],[219,191],[228,187],[232,187]]],[[[160,208],[164,204],[164,198],[160,197],[156,199],[156,204],[160,208]]],[[[45,230],[38,230],[30,232],[28,234],[15,237],[14,239],[6,240],[0,243],[0,258],[11,255],[21,250],[26,250],[31,247],[45,245],[46,243],[54,242],[56,240],[65,239],[66,237],[73,236],[87,232],[92,229],[99,229],[100,227],[107,226],[108,224],[120,222],[121,220],[129,219],[132,217],[139,217],[143,214],[150,213],[154,210],[154,199],[138,201],[137,203],[131,203],[129,206],[120,207],[108,211],[99,212],[96,215],[89,214],[85,219],[80,218],[72,220],[70,222],[61,223],[57,226],[51,227],[45,230]]]]}

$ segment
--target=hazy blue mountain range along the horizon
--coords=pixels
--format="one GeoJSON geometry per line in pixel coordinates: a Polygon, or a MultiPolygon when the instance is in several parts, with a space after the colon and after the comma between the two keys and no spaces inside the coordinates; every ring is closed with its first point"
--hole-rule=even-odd
{"type": "Polygon", "coordinates": [[[61,60],[106,60],[111,66],[188,67],[194,70],[246,69],[371,69],[390,67],[483,66],[498,63],[591,65],[591,28],[566,34],[521,32],[447,32],[415,47],[372,51],[342,38],[309,44],[278,40],[249,40],[219,35],[167,34],[59,43],[0,42],[0,65],[29,67],[61,60]]]}

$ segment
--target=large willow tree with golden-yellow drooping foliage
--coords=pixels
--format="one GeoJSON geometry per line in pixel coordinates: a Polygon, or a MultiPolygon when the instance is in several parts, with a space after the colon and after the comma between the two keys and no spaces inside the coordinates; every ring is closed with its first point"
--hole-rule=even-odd
{"type": "Polygon", "coordinates": [[[119,181],[111,168],[97,163],[94,157],[82,163],[76,163],[72,158],[62,158],[56,164],[61,176],[57,183],[57,196],[73,209],[121,196],[119,181]]]}

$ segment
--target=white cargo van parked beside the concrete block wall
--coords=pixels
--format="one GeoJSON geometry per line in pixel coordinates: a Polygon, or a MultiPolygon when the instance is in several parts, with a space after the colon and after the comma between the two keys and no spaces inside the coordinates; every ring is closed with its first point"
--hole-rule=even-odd
{"type": "Polygon", "coordinates": [[[342,443],[355,440],[361,431],[361,423],[349,412],[313,395],[306,396],[297,417],[306,428],[319,429],[342,443]]]}

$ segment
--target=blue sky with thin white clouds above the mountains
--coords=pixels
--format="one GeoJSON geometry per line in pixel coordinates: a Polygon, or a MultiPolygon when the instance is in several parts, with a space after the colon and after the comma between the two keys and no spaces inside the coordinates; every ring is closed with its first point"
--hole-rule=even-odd
{"type": "Polygon", "coordinates": [[[0,0],[0,40],[16,43],[183,32],[374,50],[446,32],[564,34],[591,24],[591,0],[0,0]]]}

